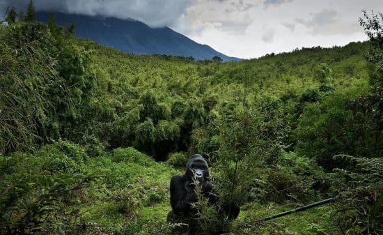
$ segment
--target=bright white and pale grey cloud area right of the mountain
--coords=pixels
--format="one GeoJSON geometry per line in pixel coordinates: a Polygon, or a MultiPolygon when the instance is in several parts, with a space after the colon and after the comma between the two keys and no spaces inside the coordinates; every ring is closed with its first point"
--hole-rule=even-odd
{"type": "Polygon", "coordinates": [[[383,11],[381,0],[254,0],[244,1],[253,4],[244,13],[230,15],[222,10],[226,9],[230,0],[214,2],[219,4],[212,4],[212,0],[196,1],[183,16],[183,24],[174,29],[198,43],[211,45],[219,52],[240,58],[289,52],[297,47],[331,47],[366,40],[358,23],[361,10],[383,11]],[[199,10],[196,10],[197,7],[199,10]],[[248,20],[244,21],[245,30],[240,31],[222,30],[220,23],[203,21],[214,16],[212,22],[227,19],[241,22],[244,15],[248,20]]]}

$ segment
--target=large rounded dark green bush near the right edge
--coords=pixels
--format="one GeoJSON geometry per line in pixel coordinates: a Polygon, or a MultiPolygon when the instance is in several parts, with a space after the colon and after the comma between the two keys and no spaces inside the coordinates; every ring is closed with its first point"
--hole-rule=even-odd
{"type": "Polygon", "coordinates": [[[346,153],[368,158],[379,156],[380,130],[370,125],[370,117],[355,97],[359,91],[331,93],[322,102],[306,105],[295,130],[297,151],[315,158],[327,169],[341,167],[332,156],[346,153]],[[363,139],[363,141],[361,141],[363,139]]]}

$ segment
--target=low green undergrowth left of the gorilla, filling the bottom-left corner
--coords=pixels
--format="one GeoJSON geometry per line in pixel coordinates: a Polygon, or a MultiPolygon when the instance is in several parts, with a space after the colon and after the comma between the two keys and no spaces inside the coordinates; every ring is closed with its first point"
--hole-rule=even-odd
{"type": "Polygon", "coordinates": [[[150,211],[163,208],[166,217],[162,185],[175,172],[132,148],[88,158],[77,144],[60,141],[33,155],[2,156],[0,170],[0,234],[169,231],[150,211]]]}

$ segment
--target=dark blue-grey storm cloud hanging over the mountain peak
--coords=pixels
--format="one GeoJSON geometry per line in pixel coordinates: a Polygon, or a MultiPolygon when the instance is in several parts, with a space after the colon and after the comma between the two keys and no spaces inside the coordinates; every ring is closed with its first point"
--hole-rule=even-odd
{"type": "MultiPolygon", "coordinates": [[[[29,0],[5,0],[6,6],[25,10],[29,0]]],[[[192,0],[34,0],[36,10],[134,19],[150,26],[178,21],[192,0]]]]}

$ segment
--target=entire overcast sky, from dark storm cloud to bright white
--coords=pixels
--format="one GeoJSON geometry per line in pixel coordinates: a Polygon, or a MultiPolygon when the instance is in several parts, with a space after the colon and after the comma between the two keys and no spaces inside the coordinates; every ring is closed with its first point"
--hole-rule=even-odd
{"type": "MultiPolygon", "coordinates": [[[[132,18],[169,26],[198,43],[244,59],[295,48],[366,40],[361,10],[382,0],[35,0],[38,10],[132,18]]],[[[0,0],[25,8],[28,0],[0,0]]],[[[3,14],[1,14],[3,15],[3,14]]]]}

